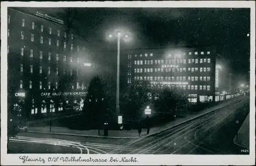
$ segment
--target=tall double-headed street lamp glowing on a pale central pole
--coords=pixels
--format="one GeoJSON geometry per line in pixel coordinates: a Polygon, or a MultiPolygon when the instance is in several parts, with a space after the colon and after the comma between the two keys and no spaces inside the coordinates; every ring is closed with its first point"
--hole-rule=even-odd
{"type": "MultiPolygon", "coordinates": [[[[112,38],[113,35],[109,34],[109,38],[112,38]]],[[[123,34],[120,31],[117,32],[117,79],[116,79],[116,117],[118,121],[118,115],[120,113],[119,106],[119,77],[120,77],[120,39],[121,37],[128,38],[128,34],[123,34]]],[[[118,122],[117,122],[118,123],[118,122]]]]}

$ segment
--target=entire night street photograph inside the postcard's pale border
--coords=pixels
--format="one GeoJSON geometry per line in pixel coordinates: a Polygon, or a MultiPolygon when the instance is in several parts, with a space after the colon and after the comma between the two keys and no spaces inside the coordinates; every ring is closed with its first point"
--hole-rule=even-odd
{"type": "Polygon", "coordinates": [[[250,8],[7,14],[8,154],[249,155],[250,8]]]}

